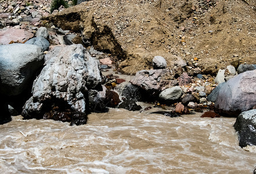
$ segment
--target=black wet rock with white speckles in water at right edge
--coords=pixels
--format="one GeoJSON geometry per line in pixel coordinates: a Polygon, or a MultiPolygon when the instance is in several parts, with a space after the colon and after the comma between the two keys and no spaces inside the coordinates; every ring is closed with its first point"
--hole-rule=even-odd
{"type": "Polygon", "coordinates": [[[234,127],[239,134],[239,146],[256,146],[256,110],[241,113],[234,127]]]}

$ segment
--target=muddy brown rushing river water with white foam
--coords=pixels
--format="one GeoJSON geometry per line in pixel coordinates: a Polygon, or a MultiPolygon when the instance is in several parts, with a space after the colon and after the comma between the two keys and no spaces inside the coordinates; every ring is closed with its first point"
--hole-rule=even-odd
{"type": "Polygon", "coordinates": [[[252,173],[235,118],[110,109],[88,124],[12,117],[0,125],[1,173],[252,173]]]}

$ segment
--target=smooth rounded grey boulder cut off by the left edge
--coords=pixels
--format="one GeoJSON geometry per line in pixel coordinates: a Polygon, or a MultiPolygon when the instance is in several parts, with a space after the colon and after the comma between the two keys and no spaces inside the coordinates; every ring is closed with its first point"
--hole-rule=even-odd
{"type": "Polygon", "coordinates": [[[0,92],[19,95],[33,82],[35,72],[44,64],[44,53],[37,45],[0,45],[0,92]]]}

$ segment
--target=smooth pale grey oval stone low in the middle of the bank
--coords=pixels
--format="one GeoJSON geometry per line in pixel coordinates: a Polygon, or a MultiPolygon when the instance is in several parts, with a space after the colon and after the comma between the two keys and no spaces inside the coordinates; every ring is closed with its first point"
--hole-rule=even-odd
{"type": "Polygon", "coordinates": [[[172,88],[163,90],[159,95],[159,99],[164,103],[172,104],[177,102],[182,95],[182,89],[179,86],[174,86],[172,88]]]}

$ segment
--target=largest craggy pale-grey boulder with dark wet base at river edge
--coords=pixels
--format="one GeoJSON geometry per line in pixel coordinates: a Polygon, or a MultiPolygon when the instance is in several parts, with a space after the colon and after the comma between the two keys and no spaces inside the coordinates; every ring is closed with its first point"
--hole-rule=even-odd
{"type": "Polygon", "coordinates": [[[34,81],[33,96],[23,107],[23,117],[85,124],[88,90],[102,82],[99,61],[81,44],[55,46],[49,54],[52,57],[34,81]]]}

